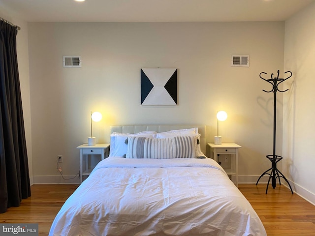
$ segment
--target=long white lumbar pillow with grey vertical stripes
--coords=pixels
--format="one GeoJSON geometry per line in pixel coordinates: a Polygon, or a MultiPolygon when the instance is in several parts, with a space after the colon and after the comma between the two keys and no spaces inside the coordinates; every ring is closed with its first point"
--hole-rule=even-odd
{"type": "Polygon", "coordinates": [[[196,158],[197,137],[179,136],[163,139],[128,137],[126,158],[196,158]]]}

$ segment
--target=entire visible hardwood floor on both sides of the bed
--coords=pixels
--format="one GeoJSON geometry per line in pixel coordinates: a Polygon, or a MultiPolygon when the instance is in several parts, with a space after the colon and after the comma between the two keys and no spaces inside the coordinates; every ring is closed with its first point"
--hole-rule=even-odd
{"type": "MultiPolygon", "coordinates": [[[[39,235],[47,236],[64,201],[78,185],[32,185],[32,197],[20,207],[10,207],[0,214],[0,223],[38,223],[39,235]]],[[[265,226],[268,236],[315,236],[315,206],[285,187],[239,184],[265,226]]]]}

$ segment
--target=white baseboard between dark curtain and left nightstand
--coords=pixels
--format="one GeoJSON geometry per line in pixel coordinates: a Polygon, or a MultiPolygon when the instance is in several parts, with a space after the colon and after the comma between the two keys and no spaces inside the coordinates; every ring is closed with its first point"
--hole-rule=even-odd
{"type": "Polygon", "coordinates": [[[78,176],[33,176],[33,184],[80,184],[78,176]],[[63,179],[64,177],[64,179],[63,179]]]}

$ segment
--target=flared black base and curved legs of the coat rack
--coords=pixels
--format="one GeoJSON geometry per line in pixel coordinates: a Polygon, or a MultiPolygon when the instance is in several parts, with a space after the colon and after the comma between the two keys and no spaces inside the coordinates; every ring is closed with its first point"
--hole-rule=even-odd
{"type": "Polygon", "coordinates": [[[278,156],[278,155],[267,155],[266,157],[271,161],[271,168],[261,174],[261,176],[258,178],[258,180],[256,182],[256,185],[258,184],[258,182],[259,182],[261,177],[263,177],[264,175],[269,175],[269,179],[268,179],[268,183],[267,183],[267,187],[266,187],[266,194],[267,194],[268,186],[269,186],[269,183],[270,183],[270,179],[271,179],[272,188],[276,188],[276,180],[277,180],[277,178],[279,179],[279,184],[281,185],[280,177],[282,177],[286,181],[286,183],[289,185],[291,193],[293,194],[293,190],[291,188],[291,185],[290,185],[289,181],[277,169],[277,163],[279,161],[281,161],[283,159],[283,157],[282,156],[278,156]],[[270,173],[268,173],[269,171],[270,171],[270,173]]]}

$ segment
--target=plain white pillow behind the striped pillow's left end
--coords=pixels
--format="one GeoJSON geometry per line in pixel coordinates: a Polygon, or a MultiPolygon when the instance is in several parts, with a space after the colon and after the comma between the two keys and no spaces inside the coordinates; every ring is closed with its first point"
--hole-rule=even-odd
{"type": "Polygon", "coordinates": [[[136,134],[124,134],[114,132],[110,135],[110,156],[124,156],[127,152],[127,143],[126,139],[128,137],[145,137],[153,138],[153,135],[157,134],[155,131],[143,131],[136,134]]]}

